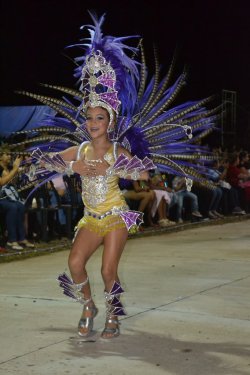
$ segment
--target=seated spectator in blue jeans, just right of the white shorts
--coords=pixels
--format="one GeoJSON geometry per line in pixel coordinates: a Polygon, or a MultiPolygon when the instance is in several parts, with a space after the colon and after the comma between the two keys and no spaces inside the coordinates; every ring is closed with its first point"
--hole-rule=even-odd
{"type": "Polygon", "coordinates": [[[197,195],[187,190],[185,177],[176,176],[172,181],[173,191],[175,192],[175,202],[177,205],[176,219],[177,223],[183,222],[182,210],[184,199],[189,200],[191,204],[191,215],[195,219],[201,219],[203,216],[199,212],[197,195]]]}

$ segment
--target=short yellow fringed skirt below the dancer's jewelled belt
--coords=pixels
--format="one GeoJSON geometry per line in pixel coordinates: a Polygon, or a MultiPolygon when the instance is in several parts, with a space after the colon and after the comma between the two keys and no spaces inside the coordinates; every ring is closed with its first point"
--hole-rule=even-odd
{"type": "Polygon", "coordinates": [[[126,228],[126,224],[119,215],[108,215],[103,219],[96,219],[92,216],[84,216],[77,224],[76,231],[86,228],[97,233],[100,237],[115,229],[126,228]]]}

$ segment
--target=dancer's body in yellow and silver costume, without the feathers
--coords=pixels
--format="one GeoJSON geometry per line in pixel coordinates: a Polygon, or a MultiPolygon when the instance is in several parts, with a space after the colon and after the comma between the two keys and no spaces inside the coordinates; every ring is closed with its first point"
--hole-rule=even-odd
{"type": "MultiPolygon", "coordinates": [[[[118,264],[128,237],[128,229],[119,215],[119,211],[128,210],[118,187],[119,177],[108,176],[107,170],[119,155],[124,154],[128,158],[131,158],[131,155],[116,143],[110,142],[109,122],[109,113],[106,109],[100,106],[89,107],[86,113],[86,128],[91,142],[84,142],[80,147],[71,147],[61,153],[65,161],[71,162],[72,170],[82,178],[82,197],[85,205],[85,214],[78,223],[68,261],[72,279],[84,298],[83,313],[78,327],[81,336],[89,335],[93,329],[93,319],[98,312],[91,297],[86,264],[103,243],[101,273],[105,297],[109,304],[114,282],[120,283],[118,264]]],[[[114,122],[110,126],[115,126],[114,122]]],[[[139,178],[148,179],[148,172],[142,172],[139,178]]],[[[119,335],[118,318],[112,314],[112,310],[112,306],[111,309],[108,308],[103,338],[119,335]]]]}

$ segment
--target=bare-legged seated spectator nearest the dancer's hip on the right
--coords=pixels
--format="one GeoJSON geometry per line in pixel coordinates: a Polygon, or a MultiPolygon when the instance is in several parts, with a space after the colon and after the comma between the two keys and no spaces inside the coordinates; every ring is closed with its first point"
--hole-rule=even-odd
{"type": "Polygon", "coordinates": [[[155,199],[155,193],[147,184],[147,181],[133,181],[133,189],[123,190],[125,199],[139,201],[138,211],[145,214],[147,223],[153,226],[151,210],[155,199]]]}

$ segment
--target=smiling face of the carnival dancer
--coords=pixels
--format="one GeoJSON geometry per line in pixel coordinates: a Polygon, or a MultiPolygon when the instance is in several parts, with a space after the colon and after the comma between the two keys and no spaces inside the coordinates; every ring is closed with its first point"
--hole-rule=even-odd
{"type": "Polygon", "coordinates": [[[86,113],[86,127],[91,138],[107,135],[109,114],[102,107],[89,107],[86,113]]]}

